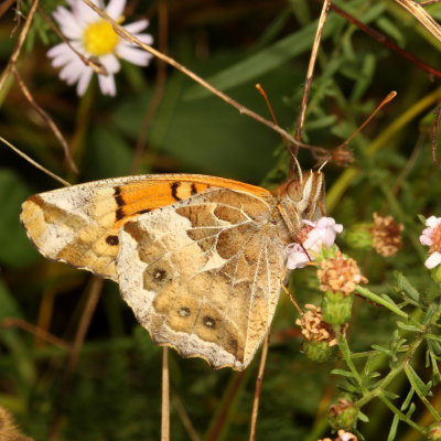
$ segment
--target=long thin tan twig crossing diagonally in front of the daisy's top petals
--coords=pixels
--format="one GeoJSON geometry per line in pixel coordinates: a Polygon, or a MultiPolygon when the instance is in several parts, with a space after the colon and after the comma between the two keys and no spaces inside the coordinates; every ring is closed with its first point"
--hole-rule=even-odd
{"type": "Polygon", "coordinates": [[[212,86],[209,83],[207,83],[205,79],[196,75],[194,72],[190,71],[186,68],[184,65],[181,63],[178,63],[174,58],[163,54],[162,52],[155,50],[152,46],[149,46],[148,44],[143,43],[139,39],[137,39],[135,35],[132,35],[130,32],[126,31],[120,24],[118,24],[115,20],[112,20],[104,10],[99,9],[97,6],[95,6],[90,0],[83,0],[87,6],[89,6],[99,17],[105,19],[107,22],[109,22],[112,26],[115,32],[121,36],[122,39],[127,40],[130,43],[137,44],[139,47],[143,49],[144,51],[151,53],[152,55],[157,56],[158,58],[162,60],[166,64],[170,64],[173,66],[175,69],[182,72],[184,75],[189,76],[192,78],[194,82],[198,83],[201,86],[205,87],[208,89],[212,94],[216,95],[220,99],[223,99],[225,103],[228,103],[230,106],[235,107],[237,110],[239,110],[240,114],[247,115],[250,118],[259,121],[260,123],[269,127],[270,129],[277,131],[280,135],[283,135],[287,139],[289,139],[294,146],[298,146],[300,148],[304,149],[316,149],[316,146],[310,146],[305,144],[303,142],[297,141],[290,133],[288,133],[286,130],[283,130],[281,127],[275,125],[273,122],[269,121],[268,119],[261,117],[260,115],[256,114],[255,111],[248,109],[247,107],[243,106],[241,104],[237,103],[233,98],[230,98],[228,95],[224,94],[216,87],[212,86]]]}

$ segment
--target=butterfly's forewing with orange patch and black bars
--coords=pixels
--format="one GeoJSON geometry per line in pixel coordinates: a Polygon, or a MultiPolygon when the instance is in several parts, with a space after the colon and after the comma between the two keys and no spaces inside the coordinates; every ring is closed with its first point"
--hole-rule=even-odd
{"type": "Polygon", "coordinates": [[[119,230],[128,220],[211,187],[268,194],[254,185],[197,174],[127,176],[31,196],[22,205],[20,219],[46,258],[117,280],[119,230]]]}

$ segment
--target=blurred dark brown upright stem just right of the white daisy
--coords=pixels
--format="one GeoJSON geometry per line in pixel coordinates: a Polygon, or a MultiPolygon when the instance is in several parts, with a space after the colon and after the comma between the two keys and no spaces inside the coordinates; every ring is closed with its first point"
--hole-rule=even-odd
{"type": "MultiPolygon", "coordinates": [[[[168,4],[164,0],[158,1],[158,46],[162,53],[166,53],[169,35],[169,14],[168,4]]],[[[133,172],[139,169],[146,149],[147,137],[153,122],[153,117],[159,108],[159,105],[161,104],[162,96],[164,95],[165,79],[166,64],[162,60],[157,58],[157,78],[154,82],[154,93],[146,111],[141,130],[137,140],[137,146],[135,148],[133,162],[131,168],[133,172]]]]}

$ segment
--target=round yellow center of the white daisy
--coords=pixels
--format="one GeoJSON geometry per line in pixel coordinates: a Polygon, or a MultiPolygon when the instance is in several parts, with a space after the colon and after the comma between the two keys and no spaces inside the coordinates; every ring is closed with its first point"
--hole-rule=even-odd
{"type": "Polygon", "coordinates": [[[90,23],[83,34],[83,44],[86,51],[95,56],[114,52],[119,37],[110,23],[105,20],[90,23]]]}

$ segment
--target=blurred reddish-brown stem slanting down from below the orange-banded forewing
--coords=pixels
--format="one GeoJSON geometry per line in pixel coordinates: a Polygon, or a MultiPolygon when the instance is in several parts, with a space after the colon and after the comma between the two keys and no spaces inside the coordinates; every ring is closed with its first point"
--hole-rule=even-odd
{"type": "Polygon", "coordinates": [[[54,420],[52,423],[52,429],[51,429],[51,434],[49,437],[49,441],[55,441],[58,435],[60,427],[62,423],[64,404],[65,404],[65,400],[67,397],[67,390],[71,386],[72,376],[74,374],[76,363],[78,361],[79,349],[83,346],[83,342],[86,336],[87,330],[89,327],[92,316],[94,315],[96,305],[99,300],[99,295],[103,290],[103,283],[104,283],[103,279],[98,279],[96,277],[93,278],[86,308],[84,310],[82,320],[78,324],[78,329],[77,329],[77,332],[76,332],[76,335],[74,338],[74,343],[72,345],[68,361],[67,361],[67,366],[66,366],[66,370],[65,370],[64,378],[63,378],[62,390],[60,394],[58,402],[55,406],[56,411],[55,411],[55,417],[54,417],[54,420]]]}

